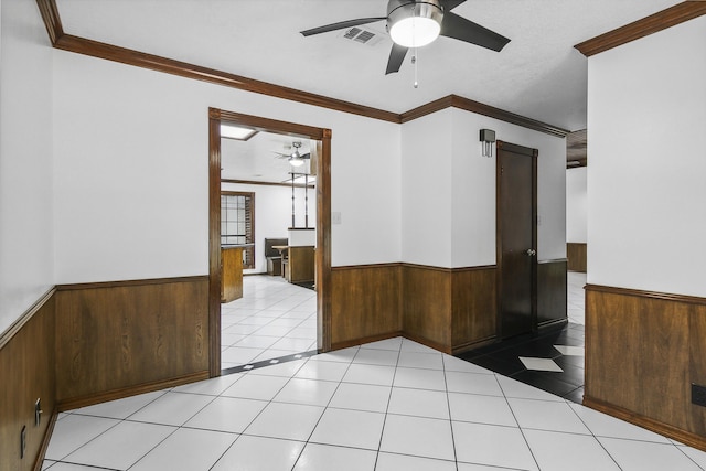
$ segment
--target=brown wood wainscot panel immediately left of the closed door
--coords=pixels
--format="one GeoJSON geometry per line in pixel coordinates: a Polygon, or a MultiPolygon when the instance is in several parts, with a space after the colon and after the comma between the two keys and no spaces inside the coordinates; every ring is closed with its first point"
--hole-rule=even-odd
{"type": "Polygon", "coordinates": [[[461,353],[495,339],[498,320],[495,281],[495,267],[474,267],[452,271],[452,353],[461,353]]]}

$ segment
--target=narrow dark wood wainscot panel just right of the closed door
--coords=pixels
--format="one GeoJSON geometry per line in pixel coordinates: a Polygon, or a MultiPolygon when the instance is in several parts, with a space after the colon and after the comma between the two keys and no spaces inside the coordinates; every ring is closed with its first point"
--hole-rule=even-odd
{"type": "Polygon", "coordinates": [[[537,327],[566,322],[566,260],[537,264],[537,327]]]}

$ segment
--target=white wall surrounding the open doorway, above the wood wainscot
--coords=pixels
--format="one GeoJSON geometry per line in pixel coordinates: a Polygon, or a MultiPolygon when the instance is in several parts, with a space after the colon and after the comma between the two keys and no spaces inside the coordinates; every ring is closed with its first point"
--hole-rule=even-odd
{"type": "Polygon", "coordinates": [[[207,274],[207,109],[331,128],[333,265],[399,259],[399,127],[54,51],[56,281],[207,274]]]}

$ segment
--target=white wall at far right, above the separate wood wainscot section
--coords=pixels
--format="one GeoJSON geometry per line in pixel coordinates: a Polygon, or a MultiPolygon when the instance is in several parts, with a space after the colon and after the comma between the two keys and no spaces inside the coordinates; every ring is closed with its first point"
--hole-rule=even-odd
{"type": "Polygon", "coordinates": [[[588,282],[706,296],[706,17],[588,74],[588,282]]]}

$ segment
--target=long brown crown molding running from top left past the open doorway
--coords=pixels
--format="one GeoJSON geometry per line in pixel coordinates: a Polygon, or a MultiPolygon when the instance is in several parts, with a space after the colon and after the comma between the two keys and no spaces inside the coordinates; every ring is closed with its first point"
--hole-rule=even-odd
{"type": "Polygon", "coordinates": [[[313,105],[321,108],[333,109],[336,111],[349,113],[353,115],[364,116],[367,118],[379,119],[383,121],[403,124],[413,119],[420,118],[431,113],[439,111],[445,108],[454,107],[467,111],[477,113],[479,115],[489,116],[501,121],[511,122],[552,136],[565,137],[568,130],[548,125],[521,115],[494,108],[469,98],[457,95],[449,95],[438,100],[422,105],[403,114],[386,111],[384,109],[373,108],[370,106],[359,105],[336,98],[312,94],[309,92],[298,90],[281,85],[270,84],[267,82],[256,81],[254,78],[231,74],[214,68],[202,67],[195,64],[189,64],[168,57],[106,44],[85,38],[75,36],[64,32],[61,15],[55,0],[36,0],[42,19],[46,26],[46,32],[52,45],[56,49],[74,52],[77,54],[89,55],[93,57],[105,58],[107,61],[119,62],[137,67],[149,68],[157,72],[178,75],[185,78],[192,78],[202,82],[208,82],[231,88],[237,88],[246,92],[267,95],[276,98],[282,98],[291,101],[313,105]]]}

